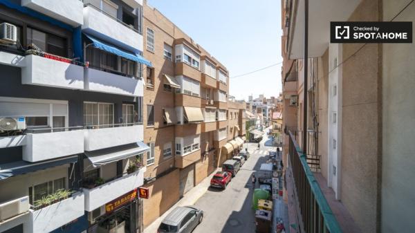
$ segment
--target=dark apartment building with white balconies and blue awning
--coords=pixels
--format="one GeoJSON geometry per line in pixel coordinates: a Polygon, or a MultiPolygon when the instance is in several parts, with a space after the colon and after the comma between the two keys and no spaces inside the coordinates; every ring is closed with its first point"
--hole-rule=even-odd
{"type": "Polygon", "coordinates": [[[0,2],[0,232],[140,231],[142,3],[0,2]]]}

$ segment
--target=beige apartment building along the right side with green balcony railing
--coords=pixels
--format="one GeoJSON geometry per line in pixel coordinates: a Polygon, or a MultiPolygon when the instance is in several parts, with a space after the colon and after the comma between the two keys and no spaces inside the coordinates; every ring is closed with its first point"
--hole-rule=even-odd
{"type": "MultiPolygon", "coordinates": [[[[315,171],[311,176],[318,182],[313,191],[297,184],[296,192],[305,202],[315,192],[323,194],[315,209],[327,206],[324,203],[331,207],[321,215],[333,217],[334,221],[323,224],[332,227],[330,232],[414,232],[415,46],[330,44],[328,25],[330,21],[414,21],[415,4],[317,1],[310,3],[308,11],[308,57],[304,58],[304,1],[282,1],[284,155],[295,167],[295,153],[305,153],[315,171]],[[304,95],[308,97],[306,125],[304,95]],[[295,133],[304,129],[306,144],[302,133],[295,133]],[[294,142],[306,148],[296,152],[294,142]]],[[[295,176],[300,174],[294,173],[299,182],[295,176]]],[[[311,229],[315,222],[309,205],[300,201],[299,208],[304,229],[311,229]]]]}

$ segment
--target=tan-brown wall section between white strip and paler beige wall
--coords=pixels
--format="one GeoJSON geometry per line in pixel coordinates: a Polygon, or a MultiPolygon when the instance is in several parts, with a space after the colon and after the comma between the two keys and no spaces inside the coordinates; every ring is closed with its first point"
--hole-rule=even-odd
{"type": "MultiPolygon", "coordinates": [[[[349,21],[378,21],[377,1],[363,0],[349,21]]],[[[361,46],[343,44],[342,61],[361,46]]],[[[342,65],[340,199],[362,232],[376,232],[380,212],[378,55],[378,45],[367,44],[342,65]]]]}

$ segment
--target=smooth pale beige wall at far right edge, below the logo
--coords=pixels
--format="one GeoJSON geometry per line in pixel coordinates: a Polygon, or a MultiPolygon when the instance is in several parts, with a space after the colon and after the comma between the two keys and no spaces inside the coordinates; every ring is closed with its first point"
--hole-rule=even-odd
{"type": "MultiPolygon", "coordinates": [[[[389,21],[408,1],[384,0],[389,21]]],[[[412,3],[394,21],[415,21],[412,3]]],[[[415,31],[412,23],[412,31],[415,31]]],[[[382,232],[415,232],[415,45],[382,45],[382,232]]],[[[380,93],[379,93],[380,94],[380,93]]]]}

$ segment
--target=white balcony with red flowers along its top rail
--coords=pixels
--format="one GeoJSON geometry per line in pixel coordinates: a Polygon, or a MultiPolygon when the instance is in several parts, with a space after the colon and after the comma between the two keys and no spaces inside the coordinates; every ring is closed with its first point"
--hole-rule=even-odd
{"type": "Polygon", "coordinates": [[[22,84],[68,89],[84,88],[84,67],[71,64],[71,59],[37,52],[36,55],[26,55],[25,60],[26,66],[21,68],[22,84]]]}

